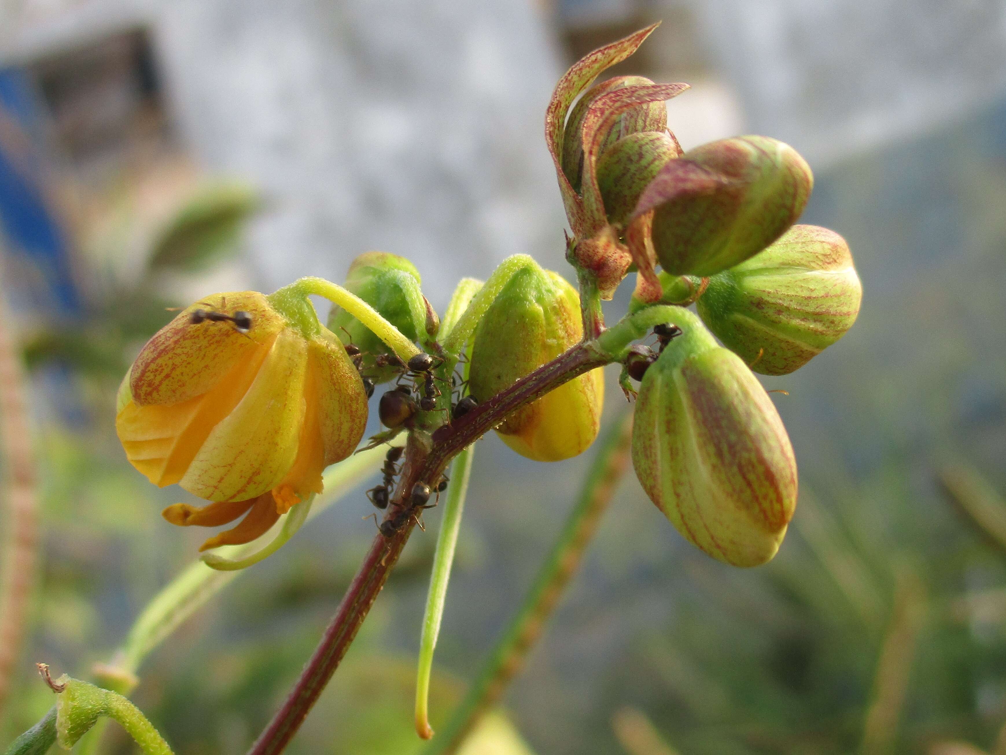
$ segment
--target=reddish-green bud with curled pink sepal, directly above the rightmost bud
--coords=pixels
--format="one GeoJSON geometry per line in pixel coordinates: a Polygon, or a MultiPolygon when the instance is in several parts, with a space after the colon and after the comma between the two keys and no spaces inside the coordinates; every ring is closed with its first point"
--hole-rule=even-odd
{"type": "Polygon", "coordinates": [[[813,183],[789,145],[764,136],[723,139],[668,161],[633,217],[655,210],[653,246],[666,272],[710,276],[782,236],[803,212],[813,183]]]}

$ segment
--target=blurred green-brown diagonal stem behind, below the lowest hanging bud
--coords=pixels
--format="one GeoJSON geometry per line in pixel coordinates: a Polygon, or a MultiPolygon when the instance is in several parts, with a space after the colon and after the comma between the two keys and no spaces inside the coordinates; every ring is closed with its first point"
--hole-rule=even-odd
{"type": "Polygon", "coordinates": [[[576,571],[597,531],[601,514],[608,507],[619,480],[628,468],[631,442],[632,415],[626,414],[603,439],[579,500],[478,680],[444,732],[427,746],[423,755],[455,752],[482,715],[499,701],[510,680],[520,669],[528,651],[540,636],[545,619],[576,571]]]}

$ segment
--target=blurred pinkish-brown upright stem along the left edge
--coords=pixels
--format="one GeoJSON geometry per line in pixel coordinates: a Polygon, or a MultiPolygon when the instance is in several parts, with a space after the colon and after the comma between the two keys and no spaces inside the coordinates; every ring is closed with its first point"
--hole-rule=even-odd
{"type": "Polygon", "coordinates": [[[31,430],[20,357],[6,328],[9,322],[0,301],[0,443],[4,462],[0,478],[6,483],[6,490],[0,489],[0,502],[7,503],[7,515],[3,517],[6,537],[0,559],[0,714],[24,638],[37,547],[31,430]]]}

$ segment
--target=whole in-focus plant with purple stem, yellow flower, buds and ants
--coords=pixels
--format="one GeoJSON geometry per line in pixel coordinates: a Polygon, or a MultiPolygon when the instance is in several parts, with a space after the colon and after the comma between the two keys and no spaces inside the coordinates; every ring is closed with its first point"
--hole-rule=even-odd
{"type": "MultiPolygon", "coordinates": [[[[425,690],[473,446],[495,430],[535,461],[584,452],[600,431],[607,364],[622,366],[620,386],[630,401],[638,397],[631,431],[626,424],[602,444],[535,587],[433,751],[453,751],[498,700],[630,452],[653,502],[709,556],[747,567],[779,549],[796,505],[796,463],[752,370],[793,371],[837,341],[858,313],[860,284],[841,237],[794,224],[813,178],[793,148],[743,136],[682,152],[665,101],[687,85],[619,77],[592,87],[654,28],[576,62],[546,112],[576,287],[518,255],[484,283],[463,279],[440,316],[410,262],[368,253],[344,286],[303,278],[270,295],[204,297],[150,339],[123,380],[116,425],[127,457],[151,482],[179,484],[206,501],[169,506],[171,523],[237,522],[201,549],[209,551],[205,567],[231,573],[275,552],[307,520],[324,494],[324,470],[350,463],[370,399],[384,387],[377,408],[385,429],[365,446],[383,459],[380,483],[367,491],[382,516],[377,534],[250,753],[279,753],[291,741],[424,510],[443,495],[415,716],[417,733],[434,735],[425,690]],[[602,301],[631,272],[629,313],[609,326],[602,301]],[[310,296],[335,305],[327,323],[310,296]],[[640,342],[653,336],[653,346],[640,342]],[[260,538],[269,545],[247,545],[260,538]],[[225,558],[215,552],[221,547],[249,551],[225,558]]],[[[191,598],[191,590],[166,592],[158,610],[184,610],[191,598]]],[[[122,666],[120,677],[135,665],[122,666]]]]}

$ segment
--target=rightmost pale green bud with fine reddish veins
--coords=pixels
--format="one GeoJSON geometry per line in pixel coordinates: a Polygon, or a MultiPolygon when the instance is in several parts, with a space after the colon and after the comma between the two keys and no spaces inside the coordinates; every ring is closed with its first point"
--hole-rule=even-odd
{"type": "Polygon", "coordinates": [[[845,240],[795,225],[764,252],[709,279],[698,313],[756,372],[787,374],[841,338],[863,289],[845,240]]]}

